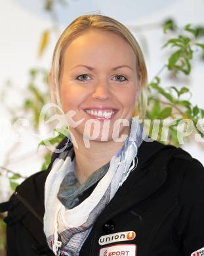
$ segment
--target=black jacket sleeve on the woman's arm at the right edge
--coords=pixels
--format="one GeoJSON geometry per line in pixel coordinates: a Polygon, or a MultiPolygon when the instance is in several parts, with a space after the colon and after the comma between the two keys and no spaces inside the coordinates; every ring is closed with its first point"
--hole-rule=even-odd
{"type": "Polygon", "coordinates": [[[183,173],[178,203],[176,226],[182,255],[204,255],[204,167],[195,158],[183,173]]]}

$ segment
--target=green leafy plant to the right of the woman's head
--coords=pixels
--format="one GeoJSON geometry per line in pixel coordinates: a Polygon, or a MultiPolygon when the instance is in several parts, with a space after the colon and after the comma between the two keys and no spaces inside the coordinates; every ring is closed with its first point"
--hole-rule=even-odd
{"type": "MultiPolygon", "coordinates": [[[[163,31],[173,31],[178,33],[176,37],[169,39],[163,48],[171,47],[175,49],[171,51],[167,64],[165,64],[159,74],[157,74],[148,87],[148,111],[147,119],[152,121],[155,119],[172,119],[172,124],[169,126],[169,139],[167,143],[179,145],[178,141],[178,123],[182,123],[183,119],[193,121],[196,131],[203,137],[203,132],[197,128],[197,121],[204,117],[204,110],[197,105],[193,106],[190,102],[190,89],[188,87],[178,88],[176,86],[164,87],[161,86],[161,72],[169,71],[174,75],[182,73],[190,75],[192,70],[192,60],[195,53],[203,54],[204,44],[197,41],[203,37],[203,29],[201,27],[192,28],[191,24],[184,26],[182,30],[178,30],[173,20],[167,20],[163,26],[163,31]],[[202,33],[201,33],[202,32],[202,33]],[[201,51],[199,51],[201,50],[201,51]],[[185,98],[188,96],[188,98],[185,98]]],[[[163,123],[159,125],[159,133],[157,140],[161,140],[163,123]]],[[[153,123],[150,124],[150,133],[153,130],[153,123]]]]}

